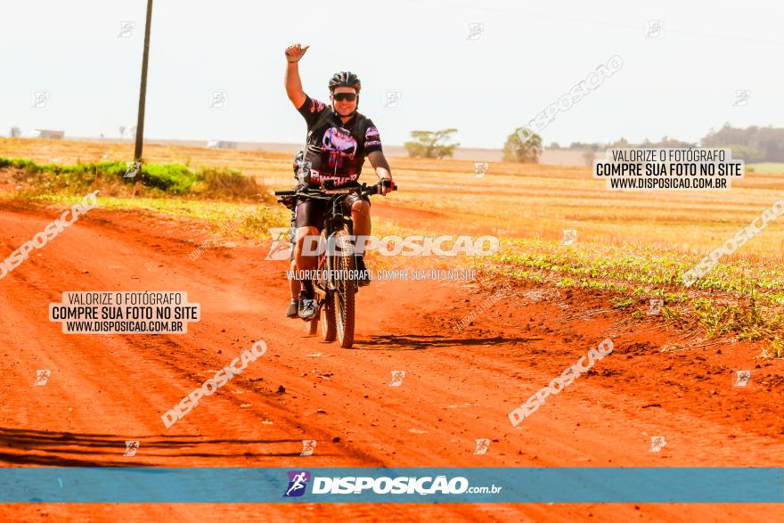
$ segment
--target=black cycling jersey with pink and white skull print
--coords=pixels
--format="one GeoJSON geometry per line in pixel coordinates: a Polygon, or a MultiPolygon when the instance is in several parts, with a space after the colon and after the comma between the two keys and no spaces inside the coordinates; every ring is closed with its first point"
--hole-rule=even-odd
{"type": "Polygon", "coordinates": [[[307,95],[298,111],[307,122],[305,160],[311,164],[312,184],[333,180],[341,187],[356,182],[365,157],[381,151],[379,130],[359,112],[344,123],[330,105],[307,95]]]}

